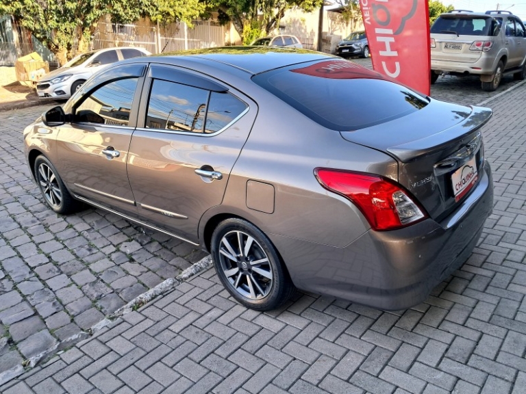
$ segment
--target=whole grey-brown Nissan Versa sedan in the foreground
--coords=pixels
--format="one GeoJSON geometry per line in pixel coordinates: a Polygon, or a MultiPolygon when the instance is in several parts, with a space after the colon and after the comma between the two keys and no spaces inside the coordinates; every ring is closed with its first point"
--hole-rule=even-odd
{"type": "Polygon", "coordinates": [[[23,135],[53,211],[87,203],[209,250],[249,308],[296,287],[399,310],[475,247],[490,116],[339,57],[229,47],[112,65],[23,135]]]}

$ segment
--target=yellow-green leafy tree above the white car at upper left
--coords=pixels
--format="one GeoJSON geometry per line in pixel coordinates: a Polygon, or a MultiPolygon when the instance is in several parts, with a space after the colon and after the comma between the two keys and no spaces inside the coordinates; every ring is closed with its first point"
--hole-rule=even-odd
{"type": "Polygon", "coordinates": [[[0,15],[12,15],[64,64],[88,49],[104,14],[120,23],[149,16],[168,23],[191,23],[204,5],[199,0],[0,0],[0,15]],[[76,43],[76,45],[75,45],[76,43]]]}

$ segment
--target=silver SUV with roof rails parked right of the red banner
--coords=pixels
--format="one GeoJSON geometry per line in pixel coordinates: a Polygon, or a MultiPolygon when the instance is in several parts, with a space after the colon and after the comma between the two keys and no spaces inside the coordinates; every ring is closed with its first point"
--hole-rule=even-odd
{"type": "Polygon", "coordinates": [[[504,75],[526,78],[526,30],[509,11],[455,10],[431,26],[431,83],[441,73],[478,75],[482,90],[496,90],[504,75]]]}

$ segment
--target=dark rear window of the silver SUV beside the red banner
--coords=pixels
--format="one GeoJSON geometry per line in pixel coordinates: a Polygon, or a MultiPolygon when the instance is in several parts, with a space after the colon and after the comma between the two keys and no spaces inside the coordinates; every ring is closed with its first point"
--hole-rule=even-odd
{"type": "Polygon", "coordinates": [[[458,34],[459,36],[497,36],[498,27],[501,23],[501,18],[442,15],[431,26],[431,33],[458,34]]]}

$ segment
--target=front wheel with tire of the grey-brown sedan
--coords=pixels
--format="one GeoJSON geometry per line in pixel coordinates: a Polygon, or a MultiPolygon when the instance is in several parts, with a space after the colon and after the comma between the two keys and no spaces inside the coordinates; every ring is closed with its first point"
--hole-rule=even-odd
{"type": "Polygon", "coordinates": [[[47,157],[40,155],[34,164],[35,180],[48,207],[56,213],[66,215],[78,211],[82,202],[69,194],[56,168],[47,157]]]}

